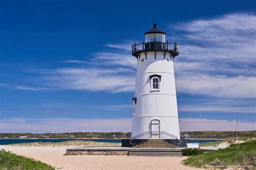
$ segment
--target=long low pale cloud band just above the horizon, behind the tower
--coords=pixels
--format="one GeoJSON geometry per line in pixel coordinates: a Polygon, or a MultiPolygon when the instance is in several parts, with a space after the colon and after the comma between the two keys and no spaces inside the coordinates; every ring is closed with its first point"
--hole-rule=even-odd
{"type": "MultiPolygon", "coordinates": [[[[130,132],[132,118],[77,119],[77,118],[2,118],[1,132],[130,132]]],[[[180,118],[180,131],[235,131],[235,121],[180,118]]],[[[239,131],[256,130],[255,122],[238,122],[239,131]]]]}

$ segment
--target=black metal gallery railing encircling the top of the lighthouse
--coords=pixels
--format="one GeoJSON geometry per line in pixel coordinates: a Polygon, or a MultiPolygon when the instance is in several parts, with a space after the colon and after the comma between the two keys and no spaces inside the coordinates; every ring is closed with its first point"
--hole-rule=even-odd
{"type": "Polygon", "coordinates": [[[170,52],[172,56],[179,55],[179,44],[176,42],[134,42],[132,44],[132,55],[138,56],[139,53],[148,51],[166,51],[170,52]]]}

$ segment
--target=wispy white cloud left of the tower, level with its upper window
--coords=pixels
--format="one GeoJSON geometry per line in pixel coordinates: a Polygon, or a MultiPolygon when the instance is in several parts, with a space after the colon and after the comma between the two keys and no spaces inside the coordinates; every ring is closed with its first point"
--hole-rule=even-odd
{"type": "Polygon", "coordinates": [[[94,68],[61,68],[55,70],[54,75],[45,76],[49,86],[61,89],[76,89],[89,91],[110,91],[117,93],[134,90],[134,77],[127,74],[130,69],[94,69],[94,68]]]}

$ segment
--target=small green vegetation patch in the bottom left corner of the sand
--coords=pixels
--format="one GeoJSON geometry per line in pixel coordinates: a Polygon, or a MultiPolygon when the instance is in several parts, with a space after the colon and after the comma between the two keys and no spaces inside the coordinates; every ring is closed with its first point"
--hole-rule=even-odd
{"type": "Polygon", "coordinates": [[[4,150],[0,151],[0,169],[54,169],[41,161],[16,155],[4,150]]]}

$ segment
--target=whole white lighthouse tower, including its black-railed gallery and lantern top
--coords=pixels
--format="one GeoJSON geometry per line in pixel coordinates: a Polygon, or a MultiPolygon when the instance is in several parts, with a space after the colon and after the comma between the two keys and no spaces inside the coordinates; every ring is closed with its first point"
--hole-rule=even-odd
{"type": "Polygon", "coordinates": [[[173,59],[179,45],[153,24],[145,40],[132,44],[137,58],[132,139],[180,139],[173,59]]]}

